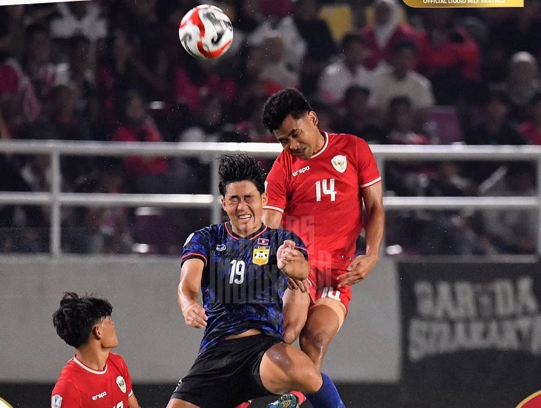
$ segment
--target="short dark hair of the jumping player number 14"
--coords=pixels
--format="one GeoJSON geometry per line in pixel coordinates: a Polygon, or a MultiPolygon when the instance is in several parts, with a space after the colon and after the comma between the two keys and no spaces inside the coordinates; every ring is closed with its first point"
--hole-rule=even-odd
{"type": "Polygon", "coordinates": [[[280,128],[287,116],[299,119],[312,110],[302,92],[294,88],[282,89],[269,97],[263,105],[263,125],[272,132],[280,128]]]}

